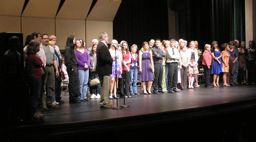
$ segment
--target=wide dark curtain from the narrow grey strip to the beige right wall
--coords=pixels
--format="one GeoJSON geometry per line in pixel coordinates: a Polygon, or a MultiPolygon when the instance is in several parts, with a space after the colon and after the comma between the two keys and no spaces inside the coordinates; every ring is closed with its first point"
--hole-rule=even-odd
{"type": "Polygon", "coordinates": [[[188,42],[197,40],[199,49],[214,40],[219,47],[231,40],[245,40],[244,0],[170,1],[176,4],[171,9],[178,12],[179,37],[188,42]]]}

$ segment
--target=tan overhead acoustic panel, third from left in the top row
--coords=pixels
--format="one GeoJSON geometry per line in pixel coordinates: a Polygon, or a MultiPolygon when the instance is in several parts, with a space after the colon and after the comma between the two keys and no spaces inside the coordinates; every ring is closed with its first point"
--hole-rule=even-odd
{"type": "Polygon", "coordinates": [[[57,19],[85,20],[93,0],[65,0],[57,19]]]}

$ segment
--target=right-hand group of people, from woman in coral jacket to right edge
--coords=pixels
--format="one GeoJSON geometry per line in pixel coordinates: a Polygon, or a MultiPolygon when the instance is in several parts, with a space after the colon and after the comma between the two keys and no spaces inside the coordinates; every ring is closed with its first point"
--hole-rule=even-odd
{"type": "Polygon", "coordinates": [[[213,74],[213,87],[220,87],[220,73],[223,72],[223,86],[233,86],[246,84],[246,69],[248,71],[248,83],[255,83],[255,61],[256,47],[253,40],[249,41],[249,47],[245,47],[245,42],[241,45],[238,40],[224,43],[221,48],[216,41],[211,45],[206,44],[203,53],[203,67],[205,76],[205,86],[211,87],[210,77],[213,74]]]}

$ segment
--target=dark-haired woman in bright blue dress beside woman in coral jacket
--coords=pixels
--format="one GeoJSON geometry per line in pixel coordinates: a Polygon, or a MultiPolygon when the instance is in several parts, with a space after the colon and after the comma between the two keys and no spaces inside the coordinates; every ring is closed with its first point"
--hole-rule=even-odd
{"type": "Polygon", "coordinates": [[[211,70],[211,74],[213,74],[213,86],[220,87],[219,78],[222,70],[222,54],[220,52],[220,48],[218,47],[218,43],[216,41],[212,42],[211,54],[213,55],[213,67],[211,70]]]}

